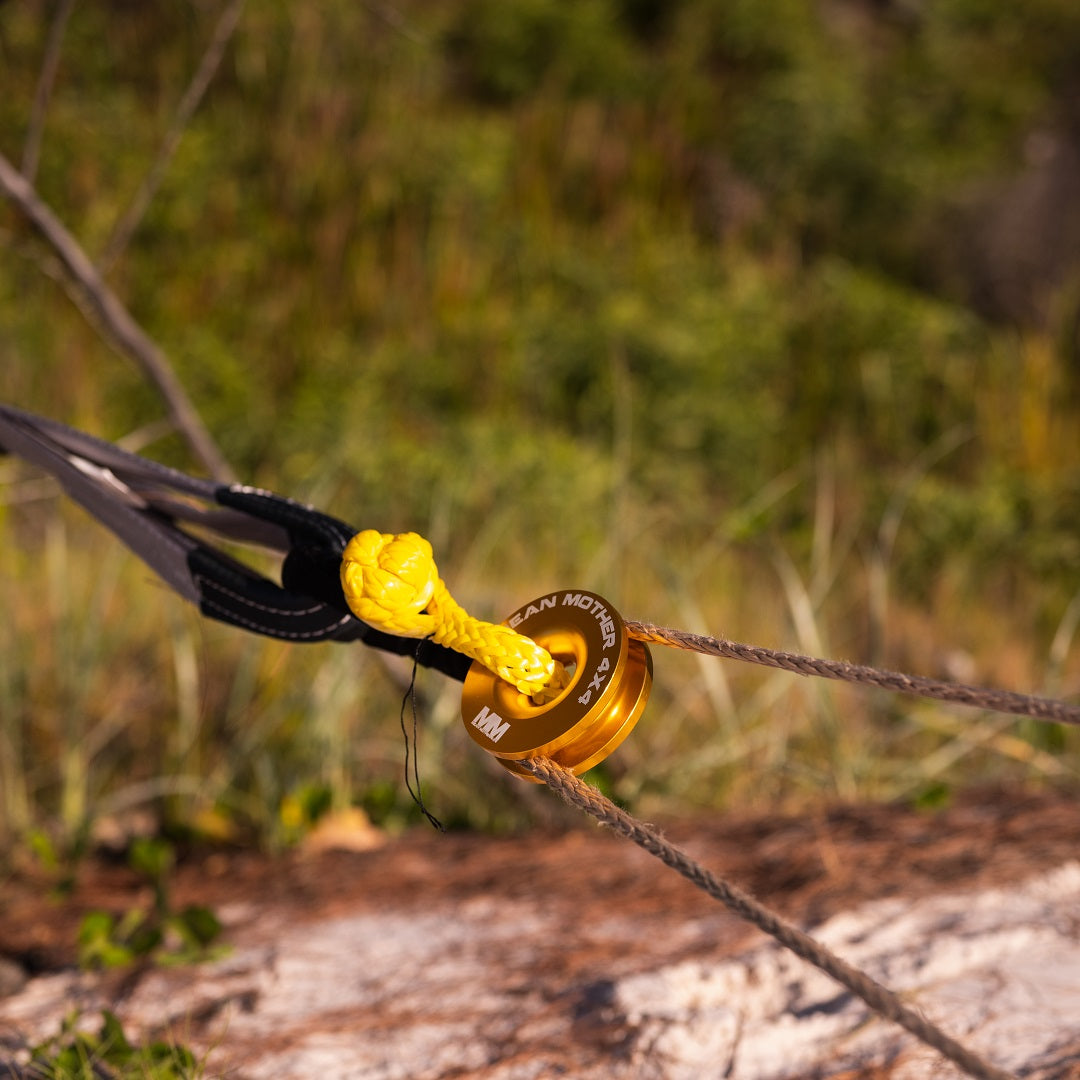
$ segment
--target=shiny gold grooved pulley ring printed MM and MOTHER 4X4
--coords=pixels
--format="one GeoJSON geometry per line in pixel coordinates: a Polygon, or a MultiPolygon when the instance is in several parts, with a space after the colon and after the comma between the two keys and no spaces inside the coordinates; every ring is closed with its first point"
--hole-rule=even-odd
{"type": "Polygon", "coordinates": [[[544,756],[579,775],[603,761],[630,734],[652,685],[652,657],[631,640],[622,617],[595,593],[561,590],[519,607],[508,626],[531,637],[566,665],[569,685],[536,705],[474,662],[461,691],[461,719],[474,742],[511,772],[544,756]]]}

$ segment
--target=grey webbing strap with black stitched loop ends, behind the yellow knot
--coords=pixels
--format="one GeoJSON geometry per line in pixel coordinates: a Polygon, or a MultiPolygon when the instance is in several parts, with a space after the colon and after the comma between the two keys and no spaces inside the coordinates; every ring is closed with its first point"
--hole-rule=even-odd
{"type": "Polygon", "coordinates": [[[0,404],[0,453],[43,469],[203,615],[289,642],[354,642],[417,657],[463,679],[467,657],[395,637],[349,610],[338,567],[356,531],[270,491],[188,476],[102,440],[0,404]],[[285,555],[282,583],[189,532],[183,524],[285,555]]]}

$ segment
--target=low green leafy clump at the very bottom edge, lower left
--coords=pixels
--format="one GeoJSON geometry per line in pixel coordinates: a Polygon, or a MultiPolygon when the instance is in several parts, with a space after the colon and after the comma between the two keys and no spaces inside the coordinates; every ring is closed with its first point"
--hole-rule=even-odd
{"type": "Polygon", "coordinates": [[[84,1030],[72,1013],[57,1035],[32,1048],[27,1075],[35,1080],[193,1080],[203,1070],[187,1047],[160,1040],[133,1044],[106,1010],[97,1031],[84,1030]]]}

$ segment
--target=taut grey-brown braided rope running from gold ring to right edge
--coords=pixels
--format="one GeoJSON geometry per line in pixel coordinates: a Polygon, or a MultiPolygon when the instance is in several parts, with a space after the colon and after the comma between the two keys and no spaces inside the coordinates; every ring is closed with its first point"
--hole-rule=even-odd
{"type": "Polygon", "coordinates": [[[821,660],[804,657],[796,652],[780,652],[756,645],[742,645],[726,637],[707,637],[690,634],[685,630],[657,626],[650,622],[626,622],[626,632],[638,642],[670,645],[676,649],[704,652],[711,657],[726,657],[729,660],[744,660],[766,667],[780,667],[797,675],[816,675],[820,678],[842,679],[846,683],[861,683],[880,687],[899,693],[917,694],[920,698],[935,698],[959,705],[988,708],[998,713],[1016,716],[1031,716],[1038,720],[1057,724],[1080,725],[1080,705],[1070,705],[1051,698],[1036,698],[1012,690],[995,690],[987,687],[964,686],[962,683],[943,683],[921,675],[905,675],[880,667],[849,664],[843,660],[821,660]]]}

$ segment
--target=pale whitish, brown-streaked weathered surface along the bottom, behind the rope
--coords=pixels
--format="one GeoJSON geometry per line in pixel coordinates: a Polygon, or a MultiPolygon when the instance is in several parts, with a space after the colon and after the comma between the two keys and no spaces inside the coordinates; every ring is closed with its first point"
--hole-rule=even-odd
{"type": "MultiPolygon", "coordinates": [[[[226,959],[151,969],[111,1001],[98,976],[32,978],[0,1000],[0,1028],[32,1042],[72,1007],[107,1004],[132,1037],[168,1029],[207,1054],[207,1076],[237,1080],[960,1075],[802,961],[733,933],[719,908],[692,927],[617,905],[575,923],[572,897],[528,895],[301,924],[257,903],[222,915],[226,959]]],[[[813,933],[995,1064],[1058,1078],[1080,1075],[1078,927],[1070,862],[978,892],[864,903],[813,933]]]]}

